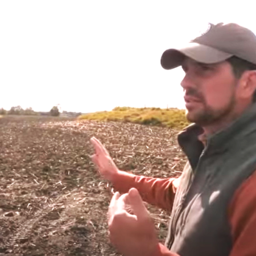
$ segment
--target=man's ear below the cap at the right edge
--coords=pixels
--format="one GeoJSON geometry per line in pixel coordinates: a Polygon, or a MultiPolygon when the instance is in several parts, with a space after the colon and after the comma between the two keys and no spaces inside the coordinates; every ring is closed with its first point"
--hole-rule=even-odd
{"type": "Polygon", "coordinates": [[[256,71],[245,71],[240,79],[240,97],[252,98],[256,90],[256,71]]]}

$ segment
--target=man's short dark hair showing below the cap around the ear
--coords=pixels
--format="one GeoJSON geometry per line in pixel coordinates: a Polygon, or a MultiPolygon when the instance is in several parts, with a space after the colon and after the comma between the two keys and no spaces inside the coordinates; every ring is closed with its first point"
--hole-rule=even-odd
{"type": "MultiPolygon", "coordinates": [[[[232,66],[234,76],[237,79],[240,79],[245,71],[256,70],[256,64],[250,63],[249,61],[240,59],[236,56],[230,57],[227,61],[232,66]]],[[[256,90],[253,94],[253,102],[256,102],[256,90]]]]}

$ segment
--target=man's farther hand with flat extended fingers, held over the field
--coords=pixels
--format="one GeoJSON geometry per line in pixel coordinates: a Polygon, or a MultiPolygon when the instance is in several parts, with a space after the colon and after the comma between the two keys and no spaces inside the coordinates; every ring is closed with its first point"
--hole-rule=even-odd
{"type": "Polygon", "coordinates": [[[95,154],[92,156],[92,161],[98,167],[98,171],[108,181],[112,181],[115,175],[118,174],[118,168],[115,166],[113,159],[110,157],[109,152],[101,144],[101,142],[92,137],[90,142],[93,144],[95,154]]]}

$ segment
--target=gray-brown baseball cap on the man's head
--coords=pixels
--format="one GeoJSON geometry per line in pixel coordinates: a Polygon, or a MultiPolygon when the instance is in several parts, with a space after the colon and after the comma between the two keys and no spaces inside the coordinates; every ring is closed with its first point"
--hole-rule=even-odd
{"type": "Polygon", "coordinates": [[[200,36],[184,46],[167,49],[161,58],[164,69],[179,67],[185,57],[200,63],[213,64],[232,56],[256,64],[256,36],[236,23],[208,23],[200,36]]]}

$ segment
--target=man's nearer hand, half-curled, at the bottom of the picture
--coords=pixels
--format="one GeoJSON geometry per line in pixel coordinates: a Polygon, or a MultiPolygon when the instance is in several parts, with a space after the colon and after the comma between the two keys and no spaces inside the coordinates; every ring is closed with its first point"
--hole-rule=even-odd
{"type": "Polygon", "coordinates": [[[109,205],[109,236],[117,250],[125,256],[154,256],[158,239],[154,222],[143,204],[139,192],[114,194],[109,205]]]}

